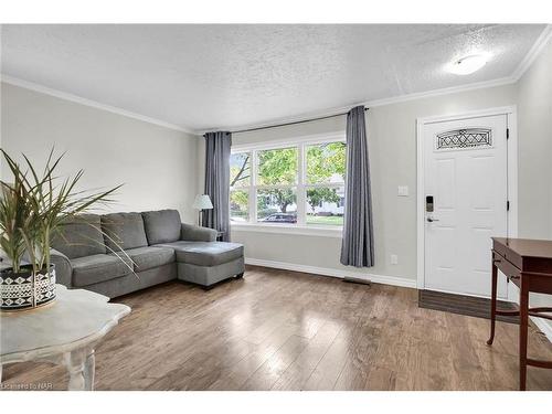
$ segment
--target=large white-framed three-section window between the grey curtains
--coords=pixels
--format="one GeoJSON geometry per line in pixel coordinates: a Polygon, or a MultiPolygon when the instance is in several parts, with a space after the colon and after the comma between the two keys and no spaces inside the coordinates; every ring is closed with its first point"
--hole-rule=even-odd
{"type": "Polygon", "coordinates": [[[344,141],[236,150],[230,169],[233,223],[343,224],[344,141]]]}

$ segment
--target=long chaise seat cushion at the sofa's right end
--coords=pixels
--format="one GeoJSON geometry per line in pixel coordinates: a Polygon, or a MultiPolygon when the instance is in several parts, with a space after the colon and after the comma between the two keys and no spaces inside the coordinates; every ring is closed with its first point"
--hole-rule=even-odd
{"type": "Polygon", "coordinates": [[[178,263],[197,266],[216,266],[243,257],[243,245],[226,242],[174,242],[163,247],[174,248],[178,263]]]}

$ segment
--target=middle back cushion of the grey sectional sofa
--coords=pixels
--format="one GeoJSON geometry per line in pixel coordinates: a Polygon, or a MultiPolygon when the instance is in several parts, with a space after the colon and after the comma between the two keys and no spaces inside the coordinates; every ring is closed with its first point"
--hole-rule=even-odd
{"type": "Polygon", "coordinates": [[[102,215],[102,230],[109,252],[148,245],[140,213],[113,213],[102,215]]]}

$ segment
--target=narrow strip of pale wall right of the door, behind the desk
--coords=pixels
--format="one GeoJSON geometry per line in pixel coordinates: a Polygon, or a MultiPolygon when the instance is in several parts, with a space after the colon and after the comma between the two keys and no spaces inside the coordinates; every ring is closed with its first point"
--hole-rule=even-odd
{"type": "MultiPolygon", "coordinates": [[[[552,39],[519,81],[517,100],[519,235],[552,240],[552,39]]],[[[531,306],[552,306],[552,298],[531,295],[531,306]]],[[[540,327],[552,340],[552,322],[540,327]]]]}

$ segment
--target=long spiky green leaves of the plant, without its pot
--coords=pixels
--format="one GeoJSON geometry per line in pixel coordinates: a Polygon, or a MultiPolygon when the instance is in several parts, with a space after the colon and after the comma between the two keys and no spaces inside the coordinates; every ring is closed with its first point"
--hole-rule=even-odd
{"type": "Polygon", "coordinates": [[[120,185],[99,192],[77,191],[83,170],[63,180],[55,176],[64,155],[54,157],[52,149],[44,170],[39,172],[26,156],[20,164],[3,149],[0,151],[12,176],[11,181],[0,180],[0,247],[14,273],[21,272],[25,256],[36,274],[50,268],[50,242],[63,237],[63,222],[112,202],[120,185]]]}

